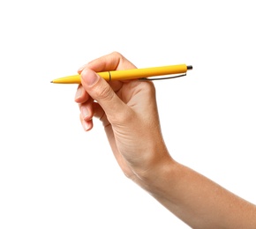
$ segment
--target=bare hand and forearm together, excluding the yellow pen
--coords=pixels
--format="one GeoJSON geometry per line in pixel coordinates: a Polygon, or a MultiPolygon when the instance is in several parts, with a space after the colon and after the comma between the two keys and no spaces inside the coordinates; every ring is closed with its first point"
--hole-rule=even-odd
{"type": "Polygon", "coordinates": [[[154,84],[106,82],[95,72],[136,68],[114,52],[79,69],[75,96],[88,131],[102,121],[124,174],[192,228],[256,228],[256,206],[178,163],[162,137],[154,84]]]}

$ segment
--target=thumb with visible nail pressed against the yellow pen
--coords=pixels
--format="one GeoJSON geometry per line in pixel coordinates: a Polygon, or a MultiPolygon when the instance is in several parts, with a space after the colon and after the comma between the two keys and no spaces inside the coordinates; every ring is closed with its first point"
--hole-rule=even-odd
{"type": "Polygon", "coordinates": [[[105,79],[93,70],[85,69],[81,72],[81,84],[87,93],[96,100],[108,116],[109,122],[120,113],[125,112],[127,106],[120,100],[105,79]]]}

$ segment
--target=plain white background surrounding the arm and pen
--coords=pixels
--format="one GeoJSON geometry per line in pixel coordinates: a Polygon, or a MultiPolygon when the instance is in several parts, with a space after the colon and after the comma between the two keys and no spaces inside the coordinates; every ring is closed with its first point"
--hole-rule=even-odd
{"type": "Polygon", "coordinates": [[[0,3],[0,228],[188,228],[126,179],[102,123],[84,132],[77,85],[53,78],[118,51],[156,82],[174,159],[256,203],[254,1],[0,3]]]}

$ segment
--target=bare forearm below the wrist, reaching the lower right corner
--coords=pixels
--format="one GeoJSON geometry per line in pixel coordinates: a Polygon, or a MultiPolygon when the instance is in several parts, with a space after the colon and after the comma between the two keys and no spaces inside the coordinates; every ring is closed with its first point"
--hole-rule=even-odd
{"type": "Polygon", "coordinates": [[[192,228],[256,228],[255,205],[172,159],[150,177],[147,191],[192,228]]]}

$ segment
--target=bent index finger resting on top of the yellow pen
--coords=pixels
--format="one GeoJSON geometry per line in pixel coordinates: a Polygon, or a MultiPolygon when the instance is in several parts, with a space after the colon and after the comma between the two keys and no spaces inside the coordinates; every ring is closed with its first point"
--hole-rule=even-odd
{"type": "Polygon", "coordinates": [[[95,72],[100,72],[105,70],[134,69],[136,67],[134,64],[129,62],[124,55],[121,55],[118,52],[113,52],[85,64],[78,70],[79,74],[81,74],[82,70],[86,68],[94,70],[95,72]]]}

